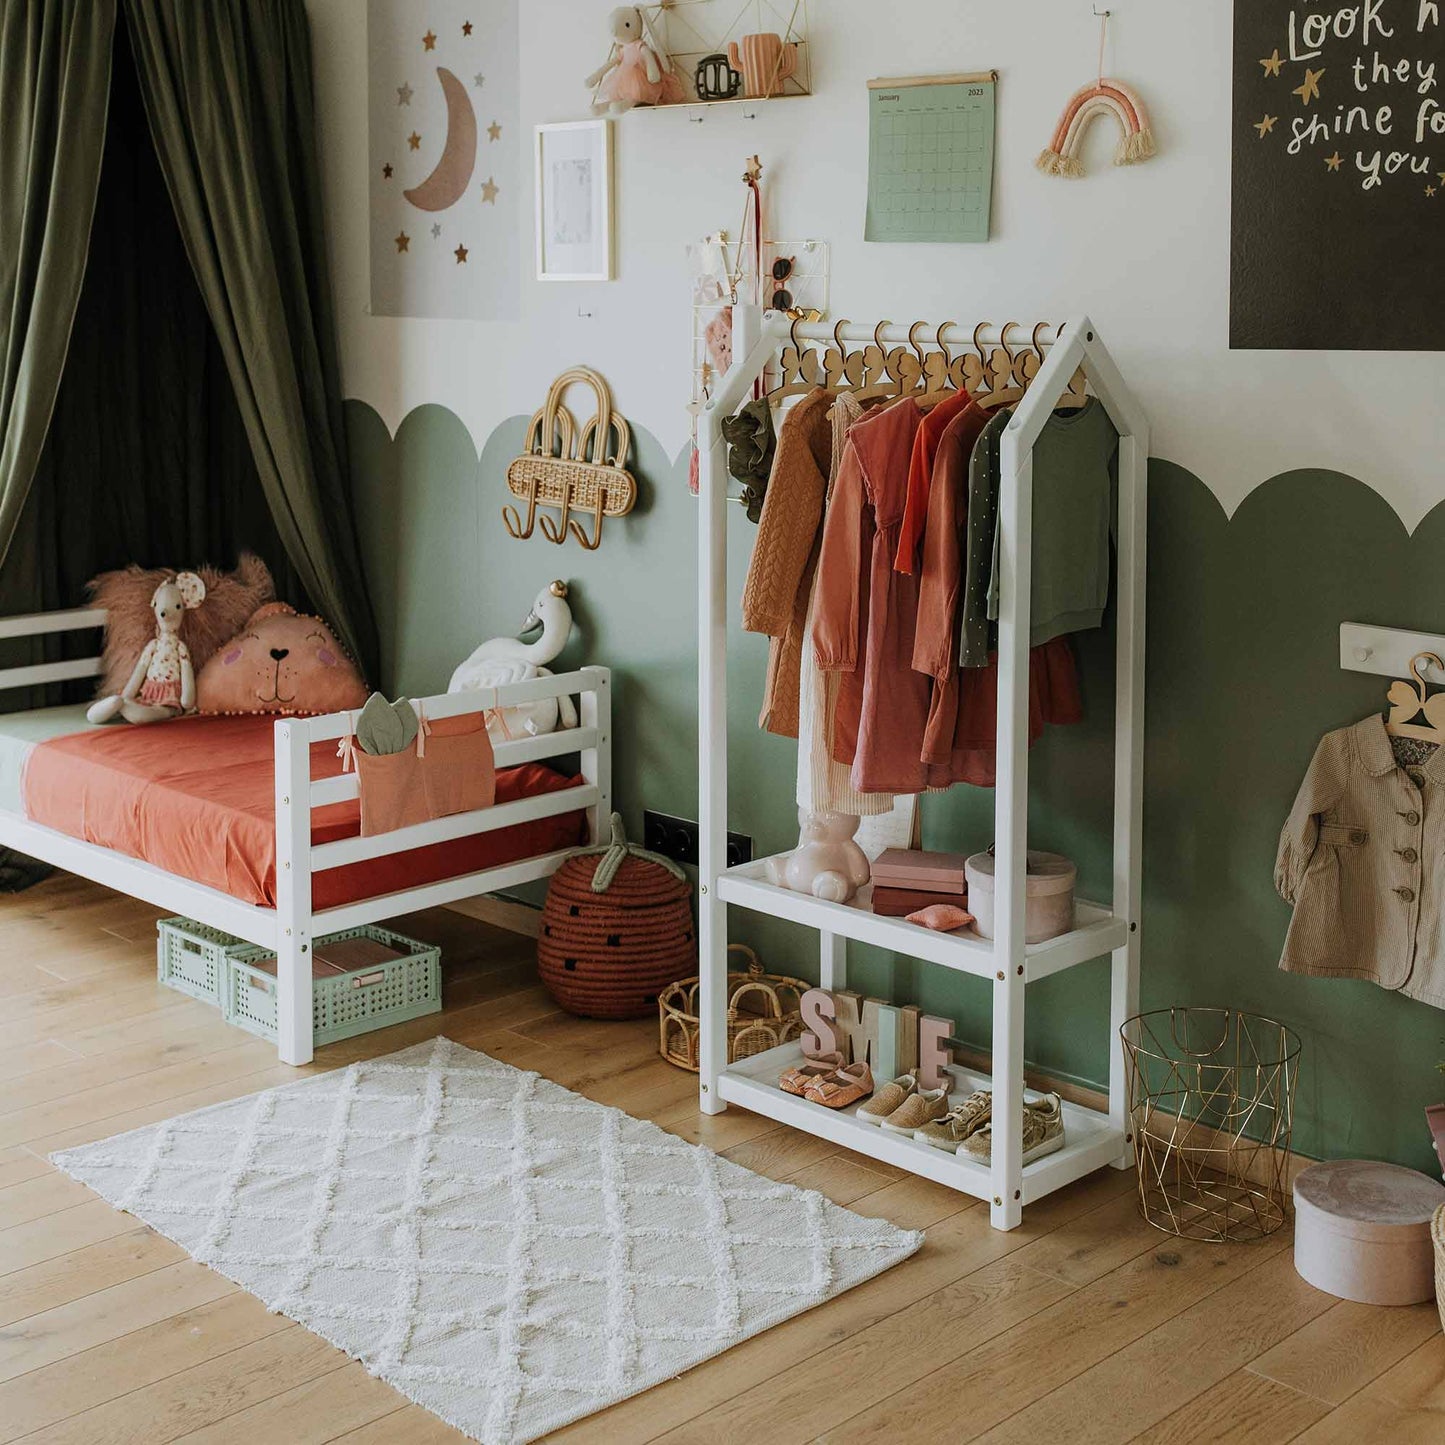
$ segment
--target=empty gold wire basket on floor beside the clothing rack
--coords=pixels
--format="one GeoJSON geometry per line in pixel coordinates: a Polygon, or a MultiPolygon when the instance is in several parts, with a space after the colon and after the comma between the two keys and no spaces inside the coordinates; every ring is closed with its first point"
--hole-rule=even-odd
{"type": "Polygon", "coordinates": [[[1289,1211],[1299,1036],[1235,1009],[1157,1009],[1118,1032],[1144,1218],[1189,1240],[1273,1234],[1289,1211]]]}

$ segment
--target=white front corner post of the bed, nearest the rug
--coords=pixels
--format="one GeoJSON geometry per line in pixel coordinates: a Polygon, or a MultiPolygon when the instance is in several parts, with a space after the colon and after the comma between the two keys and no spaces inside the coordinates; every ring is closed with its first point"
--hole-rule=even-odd
{"type": "Polygon", "coordinates": [[[276,1052],[309,1064],[311,1040],[311,741],[276,724],[276,1052]]]}

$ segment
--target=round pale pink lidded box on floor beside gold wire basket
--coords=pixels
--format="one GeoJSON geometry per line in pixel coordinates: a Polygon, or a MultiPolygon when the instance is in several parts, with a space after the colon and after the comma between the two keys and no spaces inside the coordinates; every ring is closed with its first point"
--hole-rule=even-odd
{"type": "Polygon", "coordinates": [[[1400,1165],[1334,1159],[1295,1181],[1295,1269],[1361,1305],[1435,1298],[1431,1217],[1445,1185],[1400,1165]]]}

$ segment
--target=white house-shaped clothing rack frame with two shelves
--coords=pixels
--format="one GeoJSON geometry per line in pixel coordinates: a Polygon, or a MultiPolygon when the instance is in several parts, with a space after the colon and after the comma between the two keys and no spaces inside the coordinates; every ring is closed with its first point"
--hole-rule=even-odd
{"type": "MultiPolygon", "coordinates": [[[[892,340],[845,325],[842,338],[892,340]]],[[[903,338],[906,332],[900,335],[903,338]]],[[[842,340],[822,324],[795,324],[757,308],[734,308],[734,355],[699,416],[698,517],[698,944],[701,970],[701,1107],[730,1103],[834,1140],[858,1153],[987,1199],[996,1228],[1012,1230],[1023,1205],[1085,1173],[1133,1162],[1118,1029],[1137,1012],[1140,844],[1143,834],[1144,529],[1149,428],[1094,324],[1079,316],[1061,328],[1033,384],[1003,434],[1000,452],[998,737],[994,844],[996,936],[971,931],[933,933],[871,912],[868,893],[854,903],[825,903],[767,881],[762,860],[727,867],[727,454],[721,420],[792,340],[842,340]],[[1114,699],[1114,894],[1108,905],[1079,902],[1072,932],[1025,944],[1025,861],[1029,803],[1029,594],[1033,519],[1033,447],[1078,368],[1118,432],[1117,675],[1114,699]],[[818,931],[819,980],[847,981],[847,941],[876,944],[944,968],[993,981],[993,1079],[954,1068],[958,1087],[993,1090],[993,1157],[988,1166],[902,1134],[863,1124],[777,1088],[798,1062],[796,1043],[727,1062],[727,909],[769,913],[818,931]],[[1022,1165],[1023,1019],[1027,984],[1110,954],[1108,1111],[1065,1104],[1065,1147],[1022,1165]]],[[[975,344],[994,338],[981,327],[975,344]]],[[[998,338],[1001,341],[1001,338],[998,338]]]]}

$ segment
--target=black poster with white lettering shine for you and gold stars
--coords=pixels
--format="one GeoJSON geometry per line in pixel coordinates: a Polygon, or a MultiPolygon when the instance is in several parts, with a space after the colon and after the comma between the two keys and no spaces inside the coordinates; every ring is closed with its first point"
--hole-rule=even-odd
{"type": "Polygon", "coordinates": [[[1230,345],[1445,350],[1445,0],[1234,0],[1230,345]]]}

